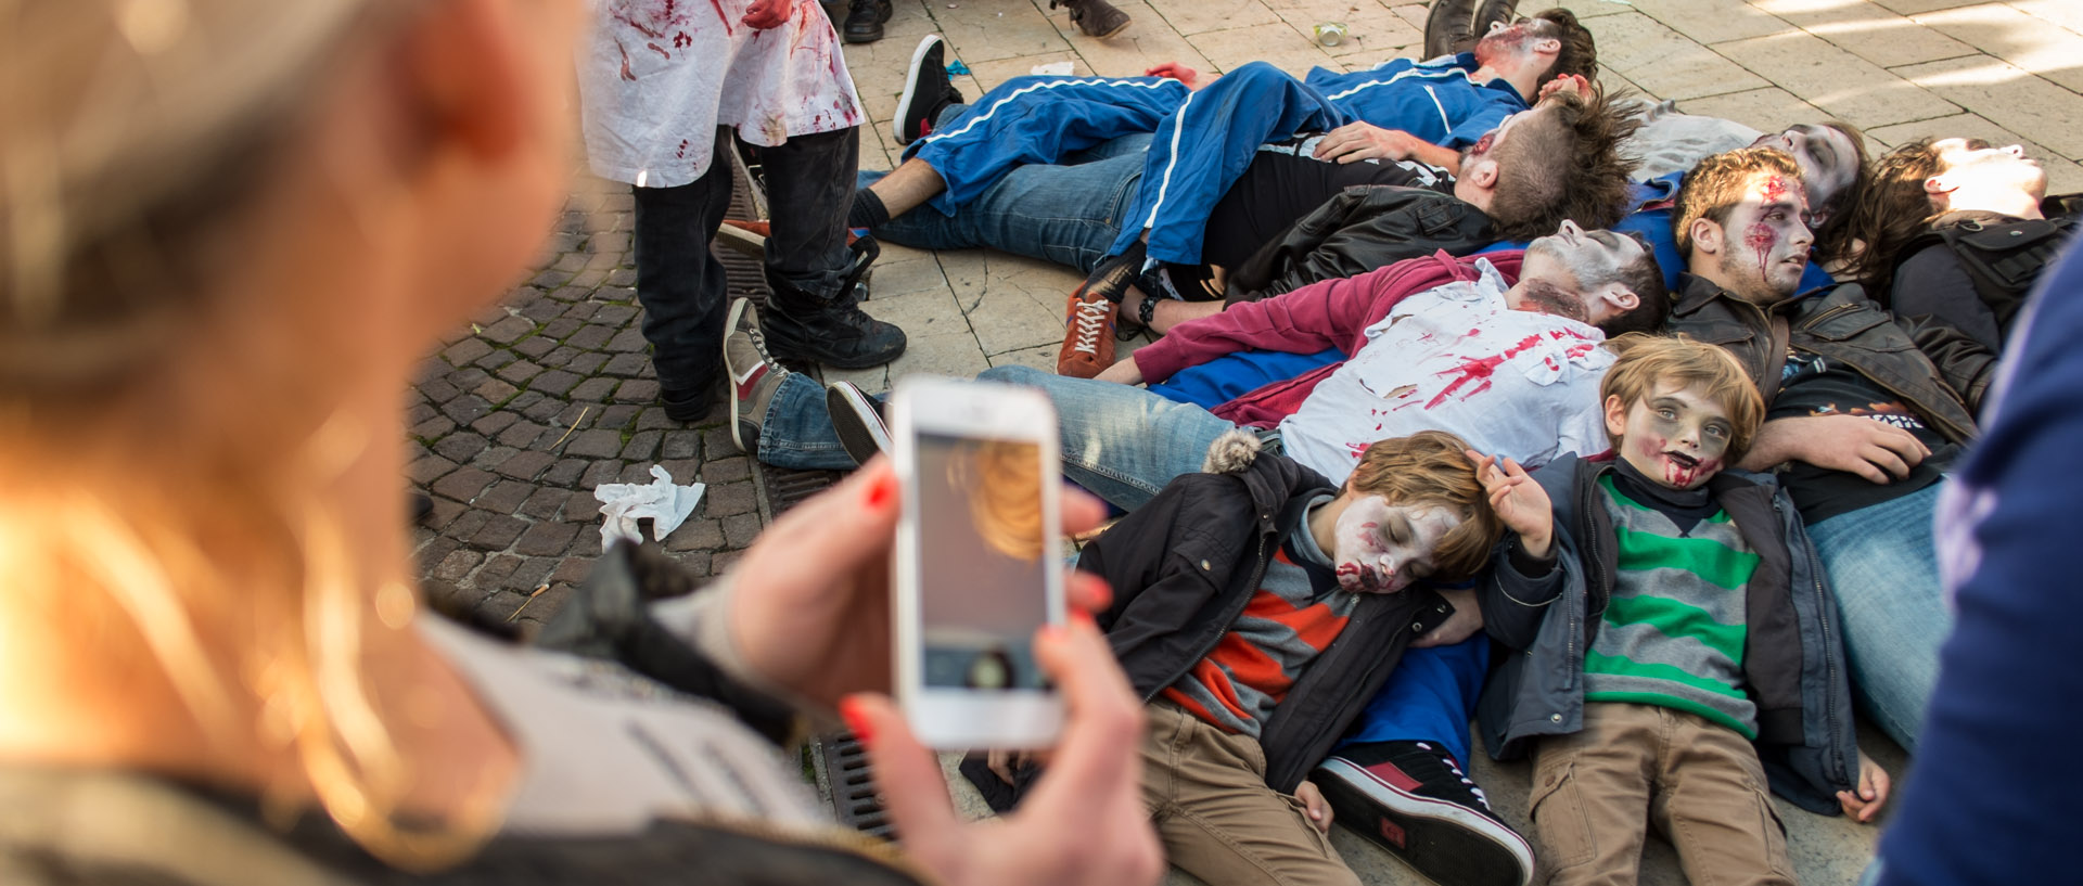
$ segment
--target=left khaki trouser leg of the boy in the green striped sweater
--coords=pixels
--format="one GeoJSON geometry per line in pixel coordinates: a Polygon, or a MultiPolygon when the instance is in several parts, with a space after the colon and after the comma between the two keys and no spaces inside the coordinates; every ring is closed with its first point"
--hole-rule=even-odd
{"type": "Polygon", "coordinates": [[[1550,886],[1635,884],[1660,730],[1656,707],[1587,703],[1583,730],[1535,742],[1527,807],[1550,886]]]}

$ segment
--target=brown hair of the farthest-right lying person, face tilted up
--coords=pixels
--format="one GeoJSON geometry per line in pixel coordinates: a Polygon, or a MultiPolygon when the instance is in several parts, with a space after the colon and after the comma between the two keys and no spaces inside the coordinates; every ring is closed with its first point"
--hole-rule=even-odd
{"type": "Polygon", "coordinates": [[[1841,225],[1846,243],[1858,243],[1858,250],[1848,250],[1843,277],[1858,281],[1866,297],[1883,306],[1896,281],[1896,258],[1937,214],[1925,179],[1943,173],[1946,160],[1931,144],[1933,139],[1916,139],[1881,154],[1873,164],[1873,179],[1858,202],[1850,204],[1841,225]]]}

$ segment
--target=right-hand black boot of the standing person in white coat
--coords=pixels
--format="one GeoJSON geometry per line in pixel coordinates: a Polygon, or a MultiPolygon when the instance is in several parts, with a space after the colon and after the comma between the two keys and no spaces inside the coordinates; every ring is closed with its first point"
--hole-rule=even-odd
{"type": "Polygon", "coordinates": [[[846,275],[839,295],[831,299],[796,289],[771,270],[767,272],[767,285],[773,287],[775,295],[767,302],[771,310],[760,314],[760,329],[767,335],[767,349],[777,360],[869,368],[904,354],[904,331],[862,312],[854,291],[881,247],[875,245],[875,237],[860,237],[852,250],[854,270],[846,275]]]}

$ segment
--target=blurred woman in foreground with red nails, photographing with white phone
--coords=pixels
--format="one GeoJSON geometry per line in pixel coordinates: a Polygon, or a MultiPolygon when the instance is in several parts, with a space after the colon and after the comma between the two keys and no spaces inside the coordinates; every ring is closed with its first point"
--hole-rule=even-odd
{"type": "Polygon", "coordinates": [[[0,2],[0,882],[1156,880],[1089,618],[1037,643],[1071,720],[1008,822],[958,824],[858,695],[887,684],[887,464],[648,611],[708,699],[419,616],[400,395],[550,229],[581,12],[0,2]],[[902,849],[773,745],[833,707],[902,849]]]}

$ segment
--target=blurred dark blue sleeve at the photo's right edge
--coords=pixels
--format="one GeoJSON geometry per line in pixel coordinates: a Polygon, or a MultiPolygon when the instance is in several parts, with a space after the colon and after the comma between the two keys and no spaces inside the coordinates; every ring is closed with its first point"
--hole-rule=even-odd
{"type": "Polygon", "coordinates": [[[2083,524],[2083,258],[2041,281],[2004,356],[1987,433],[1939,499],[1958,622],[1908,786],[1881,838],[1881,884],[2031,884],[2075,876],[2083,797],[2083,609],[2068,557],[2083,524]]]}

